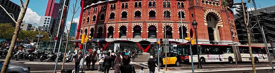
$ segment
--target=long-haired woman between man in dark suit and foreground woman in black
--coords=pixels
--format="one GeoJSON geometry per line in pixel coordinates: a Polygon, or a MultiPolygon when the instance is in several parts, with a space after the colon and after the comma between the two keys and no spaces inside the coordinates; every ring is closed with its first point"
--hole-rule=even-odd
{"type": "Polygon", "coordinates": [[[114,73],[120,73],[120,68],[119,68],[119,66],[122,64],[122,58],[120,58],[120,55],[121,53],[120,52],[118,52],[117,53],[117,58],[115,59],[115,62],[114,62],[114,73]]]}

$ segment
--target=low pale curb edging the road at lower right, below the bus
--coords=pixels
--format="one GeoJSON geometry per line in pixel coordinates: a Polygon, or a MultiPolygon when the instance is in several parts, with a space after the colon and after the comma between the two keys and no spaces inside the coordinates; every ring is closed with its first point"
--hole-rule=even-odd
{"type": "MultiPolygon", "coordinates": [[[[256,67],[256,69],[271,69],[271,67],[256,67]]],[[[158,69],[156,68],[156,71],[158,69]]],[[[194,72],[217,72],[217,71],[232,71],[232,70],[252,70],[252,67],[248,68],[223,68],[223,69],[195,69],[194,72]]],[[[162,73],[190,73],[192,70],[177,70],[177,71],[165,71],[160,69],[162,73]]]]}

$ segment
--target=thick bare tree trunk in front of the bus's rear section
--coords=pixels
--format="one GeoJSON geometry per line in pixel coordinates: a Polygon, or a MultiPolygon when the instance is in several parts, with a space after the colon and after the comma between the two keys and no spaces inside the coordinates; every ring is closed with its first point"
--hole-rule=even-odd
{"type": "MultiPolygon", "coordinates": [[[[249,54],[250,54],[250,58],[251,58],[251,62],[252,62],[252,69],[253,69],[253,73],[256,73],[255,62],[254,62],[252,49],[251,49],[250,32],[249,32],[249,29],[248,29],[248,23],[246,23],[247,19],[246,19],[245,7],[244,7],[244,4],[243,4],[243,0],[241,0],[241,1],[242,1],[242,12],[244,14],[245,28],[246,28],[247,35],[248,35],[248,46],[249,46],[249,54]]],[[[249,18],[248,18],[248,20],[249,20],[249,18]]]]}

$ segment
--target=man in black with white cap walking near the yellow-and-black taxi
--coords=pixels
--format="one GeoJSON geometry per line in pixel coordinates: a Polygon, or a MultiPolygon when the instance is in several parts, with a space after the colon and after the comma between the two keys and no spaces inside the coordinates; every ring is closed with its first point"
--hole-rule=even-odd
{"type": "Polygon", "coordinates": [[[148,60],[148,68],[150,73],[155,73],[155,66],[158,67],[156,62],[153,60],[153,56],[150,56],[150,59],[148,60]]]}

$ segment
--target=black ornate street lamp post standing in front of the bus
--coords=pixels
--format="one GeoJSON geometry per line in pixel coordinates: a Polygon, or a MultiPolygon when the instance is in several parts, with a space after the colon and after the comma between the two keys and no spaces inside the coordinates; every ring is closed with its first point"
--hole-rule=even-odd
{"type": "Polygon", "coordinates": [[[198,48],[198,34],[197,34],[198,22],[196,22],[196,20],[193,20],[192,26],[195,29],[196,45],[197,45],[197,52],[198,52],[198,67],[197,68],[203,68],[200,63],[200,53],[199,53],[199,48],[198,48]]]}

